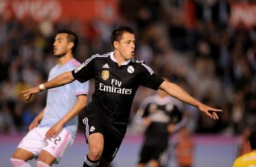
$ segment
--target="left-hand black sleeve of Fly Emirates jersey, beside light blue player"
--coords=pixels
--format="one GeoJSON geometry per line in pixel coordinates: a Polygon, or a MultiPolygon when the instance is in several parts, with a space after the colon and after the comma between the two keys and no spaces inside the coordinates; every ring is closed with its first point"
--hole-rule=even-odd
{"type": "Polygon", "coordinates": [[[90,59],[85,60],[79,67],[75,68],[72,71],[72,75],[77,81],[84,83],[94,77],[94,65],[95,59],[92,59],[91,57],[90,59]]]}

